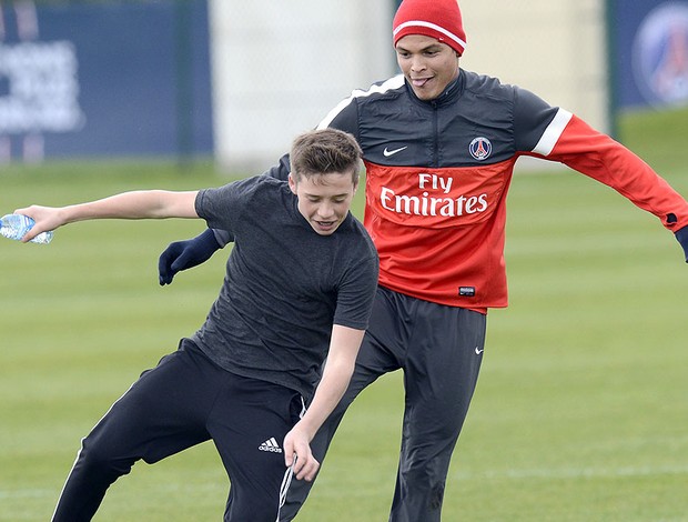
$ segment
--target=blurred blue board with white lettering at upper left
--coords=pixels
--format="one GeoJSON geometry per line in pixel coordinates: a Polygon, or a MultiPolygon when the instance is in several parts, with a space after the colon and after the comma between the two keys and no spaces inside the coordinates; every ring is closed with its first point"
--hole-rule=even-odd
{"type": "Polygon", "coordinates": [[[0,154],[212,153],[205,1],[0,11],[0,154]]]}

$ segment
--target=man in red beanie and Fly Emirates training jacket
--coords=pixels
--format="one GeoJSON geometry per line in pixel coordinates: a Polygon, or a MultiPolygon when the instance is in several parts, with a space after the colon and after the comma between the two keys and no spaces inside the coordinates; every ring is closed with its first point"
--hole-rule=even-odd
{"type": "MultiPolygon", "coordinates": [[[[380,287],[350,388],[313,440],[322,461],[344,412],[384,373],[404,371],[405,412],[392,522],[436,522],[449,460],[484,357],[487,310],[507,305],[506,194],[516,160],[557,161],[655,214],[688,260],[688,202],[637,155],[565,109],[459,68],[455,0],[404,0],[394,17],[403,74],[355,90],[320,128],[356,137],[367,171],[365,227],[380,287]]],[[[271,170],[284,179],[289,157],[271,170]]],[[[161,283],[231,238],[172,243],[161,283]]],[[[292,484],[292,520],[310,484],[292,484]]]]}

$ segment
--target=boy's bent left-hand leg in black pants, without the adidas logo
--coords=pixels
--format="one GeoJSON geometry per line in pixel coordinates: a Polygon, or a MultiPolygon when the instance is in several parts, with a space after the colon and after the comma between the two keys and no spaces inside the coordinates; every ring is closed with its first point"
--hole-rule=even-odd
{"type": "Polygon", "coordinates": [[[83,439],[53,522],[91,520],[110,484],[139,459],[158,462],[208,440],[209,368],[200,352],[181,349],[144,372],[83,439]]]}

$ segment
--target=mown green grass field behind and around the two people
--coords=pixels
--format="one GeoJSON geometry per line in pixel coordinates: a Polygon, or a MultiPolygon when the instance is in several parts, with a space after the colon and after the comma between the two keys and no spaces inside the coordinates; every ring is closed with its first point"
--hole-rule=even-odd
{"type": "MultiPolygon", "coordinates": [[[[623,139],[688,194],[688,111],[636,114],[623,139]]],[[[0,170],[0,210],[226,178],[210,164],[108,162],[0,170]]],[[[356,212],[361,215],[361,198],[356,212]]],[[[509,197],[510,307],[489,314],[446,521],[688,521],[688,267],[659,222],[570,171],[518,175],[509,197]]],[[[47,521],[80,439],[139,373],[204,320],[220,252],[160,288],[159,253],[200,221],[99,221],[48,247],[0,242],[0,521],[47,521]]],[[[352,406],[303,522],[387,519],[399,374],[352,406]]],[[[221,520],[212,444],[136,464],[101,521],[221,520]]],[[[418,521],[422,522],[422,521],[418,521]]]]}

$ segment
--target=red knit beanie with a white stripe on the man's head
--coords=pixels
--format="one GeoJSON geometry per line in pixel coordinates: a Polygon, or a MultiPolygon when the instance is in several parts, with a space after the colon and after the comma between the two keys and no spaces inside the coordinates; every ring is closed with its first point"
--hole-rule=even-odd
{"type": "Polygon", "coordinates": [[[394,46],[407,34],[439,40],[458,54],[466,48],[466,33],[456,0],[404,0],[392,22],[394,46]]]}

